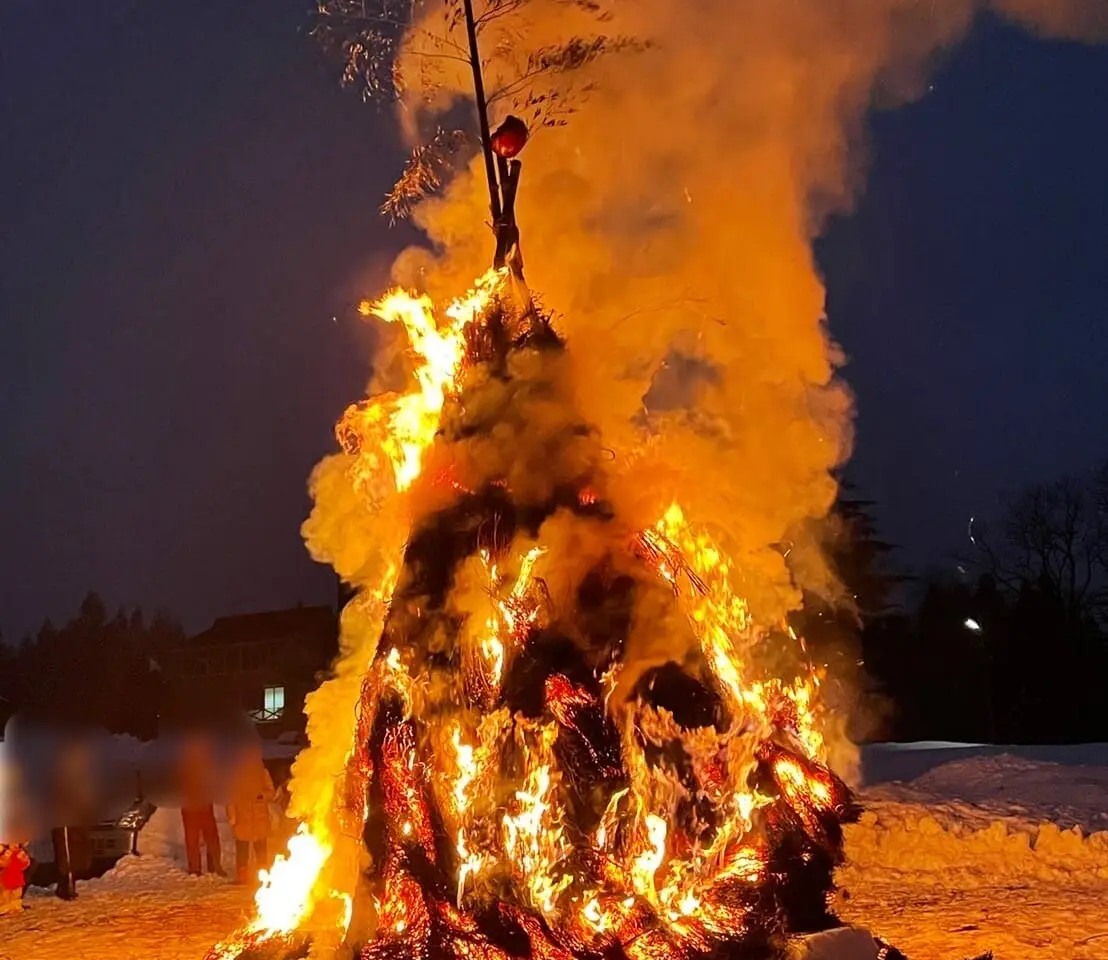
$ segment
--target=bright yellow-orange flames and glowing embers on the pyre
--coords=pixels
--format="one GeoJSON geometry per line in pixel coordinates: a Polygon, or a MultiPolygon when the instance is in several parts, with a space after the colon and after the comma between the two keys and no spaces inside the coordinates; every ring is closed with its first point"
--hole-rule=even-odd
{"type": "MultiPolygon", "coordinates": [[[[394,507],[407,515],[410,498],[406,492],[422,476],[424,455],[464,371],[466,327],[480,323],[501,280],[499,273],[486,274],[444,312],[441,321],[427,297],[403,292],[359,307],[365,316],[404,327],[413,368],[408,392],[351,407],[338,427],[355,487],[372,509],[394,507]]],[[[456,487],[452,473],[434,482],[456,487]]],[[[578,500],[593,504],[598,494],[587,488],[578,500]]],[[[388,575],[376,592],[382,610],[396,586],[402,551],[403,540],[398,537],[387,551],[388,575]]],[[[506,707],[495,709],[512,657],[544,625],[543,614],[550,614],[541,600],[545,582],[535,574],[545,548],[529,543],[519,553],[502,551],[497,556],[480,552],[480,565],[470,568],[478,589],[475,606],[466,611],[471,620],[463,654],[468,657],[464,682],[469,685],[476,680],[481,706],[486,708],[483,718],[474,719],[473,711],[443,709],[425,725],[417,722],[417,707],[430,702],[425,697],[431,695],[424,692],[430,677],[412,650],[392,647],[373,660],[357,736],[343,734],[349,737],[348,770],[361,789],[363,821],[368,803],[363,788],[371,765],[361,744],[376,698],[391,691],[402,701],[403,718],[390,721],[380,754],[373,754],[372,760],[379,766],[372,774],[381,783],[387,817],[387,854],[379,874],[383,881],[378,903],[380,940],[425,944],[432,927],[441,928],[449,931],[443,936],[458,956],[500,960],[503,951],[484,940],[478,925],[461,912],[466,898],[480,896],[479,888],[492,889],[490,878],[499,877],[510,880],[537,915],[505,906],[531,939],[533,956],[541,960],[571,960],[578,948],[604,952],[616,947],[632,958],[677,960],[689,953],[683,944],[707,950],[712,938],[740,930],[747,908],[735,891],[767,877],[769,854],[757,828],[765,820],[759,811],[776,798],[751,786],[756,769],[771,770],[779,796],[812,830],[819,827],[821,814],[834,807],[834,780],[824,779],[818,767],[808,765],[824,749],[815,709],[819,676],[813,673],[783,682],[756,674],[748,661],[753,660],[751,650],[765,634],[752,623],[736,588],[731,559],[686,519],[676,502],[638,534],[634,552],[673,589],[704,661],[718,680],[730,727],[686,731],[661,709],[643,704],[613,708],[609,698],[618,665],[598,677],[599,687],[552,673],[545,681],[543,719],[511,716],[506,707]],[[592,836],[578,842],[567,829],[570,792],[561,779],[555,743],[563,731],[567,737],[581,734],[587,741],[581,725],[591,723],[587,717],[593,714],[606,724],[614,715],[622,716],[623,735],[613,727],[613,737],[622,747],[623,766],[615,774],[603,763],[596,766],[605,777],[623,776],[625,768],[629,780],[615,789],[592,836]],[[419,759],[424,726],[440,747],[427,764],[419,759]],[[495,783],[500,758],[507,753],[501,748],[509,732],[515,738],[513,757],[517,756],[519,765],[505,800],[489,787],[495,783]],[[783,749],[756,750],[755,745],[771,735],[789,739],[789,750],[796,749],[797,757],[783,749]],[[690,760],[680,776],[647,759],[647,745],[660,747],[673,741],[680,743],[690,760]],[[695,817],[683,818],[680,811],[693,799],[711,804],[717,819],[710,829],[695,817]],[[453,837],[453,855],[442,855],[450,862],[439,861],[435,814],[441,814],[445,836],[453,837]],[[447,898],[450,902],[443,902],[441,891],[424,890],[411,876],[406,864],[413,855],[439,870],[453,865],[449,879],[455,887],[447,898]]],[[[791,631],[789,635],[800,643],[791,631]]],[[[339,834],[331,809],[334,796],[334,789],[319,793],[306,823],[290,840],[288,855],[260,875],[255,919],[235,938],[213,948],[211,960],[236,957],[245,947],[263,941],[288,940],[312,925],[328,923],[331,932],[345,935],[351,900],[332,891],[335,884],[328,876],[339,834]],[[322,909],[325,905],[331,905],[330,915],[322,909]]]]}

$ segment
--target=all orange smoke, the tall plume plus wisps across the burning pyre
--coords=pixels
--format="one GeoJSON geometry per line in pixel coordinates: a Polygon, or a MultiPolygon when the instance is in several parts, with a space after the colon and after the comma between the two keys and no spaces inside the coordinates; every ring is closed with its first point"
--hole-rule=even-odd
{"type": "MultiPolygon", "coordinates": [[[[648,47],[575,74],[588,95],[575,101],[566,126],[538,131],[523,157],[527,279],[571,349],[486,389],[469,385],[464,415],[495,426],[447,425],[472,439],[455,439],[443,456],[466,486],[510,474],[522,502],[603,463],[599,492],[628,531],[679,499],[726,543],[755,619],[777,623],[798,606],[801,588],[833,589],[803,531],[834,500],[832,471],[850,452],[852,412],[811,239],[862,185],[866,111],[917,95],[935,58],[986,8],[1044,35],[1095,40],[1108,35],[1108,4],[636,0],[613,3],[599,24],[588,7],[530,0],[503,21],[504,35],[483,40],[521,62],[598,27],[648,47]],[[577,430],[578,420],[595,431],[577,430]],[[788,563],[784,542],[794,544],[788,563]]],[[[406,75],[413,132],[469,90],[462,70],[437,71],[434,89],[419,86],[418,69],[406,75]]],[[[491,255],[486,201],[474,161],[418,208],[433,249],[402,255],[397,279],[442,302],[466,289],[491,255]]],[[[371,384],[370,392],[387,386],[371,384]]],[[[312,746],[297,763],[294,813],[317,820],[341,789],[351,715],[403,540],[435,505],[397,491],[367,497],[351,483],[350,463],[343,453],[316,469],[304,529],[312,555],[361,591],[343,615],[337,674],[308,703],[312,746]]],[[[540,561],[555,602],[616,537],[560,515],[547,521],[540,540],[564,544],[540,561]]],[[[520,543],[513,552],[526,550],[520,543]]],[[[455,609],[472,614],[479,593],[462,571],[455,609]]],[[[663,607],[652,614],[644,595],[629,657],[679,657],[680,630],[666,624],[663,607]]],[[[331,867],[347,874],[332,881],[338,889],[351,888],[363,856],[348,839],[331,867]]]]}

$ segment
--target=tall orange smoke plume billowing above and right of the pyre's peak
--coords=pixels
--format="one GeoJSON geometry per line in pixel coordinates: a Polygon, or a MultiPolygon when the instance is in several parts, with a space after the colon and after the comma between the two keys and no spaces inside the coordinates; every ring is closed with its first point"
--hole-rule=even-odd
{"type": "MultiPolygon", "coordinates": [[[[756,614],[796,605],[773,544],[823,517],[829,471],[850,451],[842,357],[823,324],[810,241],[862,185],[869,108],[916,95],[936,54],[970,28],[970,0],[531,0],[504,37],[509,63],[598,28],[650,44],[573,76],[576,112],[524,155],[519,203],[527,278],[573,344],[579,407],[634,478],[620,510],[648,522],[681,491],[688,512],[731,539],[756,614]],[[587,7],[587,4],[585,4],[587,7]],[[711,371],[677,409],[644,407],[664,364],[711,371]],[[644,486],[644,478],[650,482],[644,486]]],[[[1104,34],[1101,0],[995,0],[1054,37],[1104,34]]],[[[431,11],[435,4],[425,3],[431,11]]],[[[437,19],[430,16],[428,27],[437,19]]],[[[412,54],[416,55],[416,54],[412,54]]],[[[404,116],[464,95],[469,75],[409,69],[404,116]]],[[[493,88],[496,78],[492,78],[493,88]]],[[[411,251],[397,278],[451,295],[486,265],[478,162],[419,224],[438,253],[411,251]]],[[[659,405],[665,406],[665,405],[659,405]]],[[[825,588],[819,564],[809,583],[825,588]]]]}

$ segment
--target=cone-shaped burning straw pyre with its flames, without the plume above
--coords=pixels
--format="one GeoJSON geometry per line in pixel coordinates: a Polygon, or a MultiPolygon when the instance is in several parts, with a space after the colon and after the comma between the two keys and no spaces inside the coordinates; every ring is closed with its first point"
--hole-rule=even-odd
{"type": "Polygon", "coordinates": [[[347,411],[308,539],[348,579],[389,571],[345,616],[379,641],[312,732],[349,743],[339,782],[298,767],[300,849],[211,960],[783,958],[838,926],[860,810],[819,665],[678,503],[624,509],[649,478],[618,476],[567,345],[510,287],[367,305],[404,327],[413,386],[347,411]],[[350,559],[375,538],[396,556],[350,559]]]}

